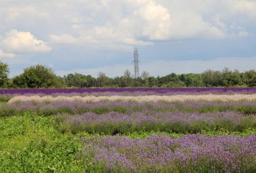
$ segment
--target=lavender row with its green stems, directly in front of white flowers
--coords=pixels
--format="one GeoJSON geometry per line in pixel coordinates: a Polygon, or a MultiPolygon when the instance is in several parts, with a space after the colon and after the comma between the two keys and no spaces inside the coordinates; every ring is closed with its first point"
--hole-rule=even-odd
{"type": "Polygon", "coordinates": [[[88,112],[104,114],[109,112],[119,113],[158,113],[158,112],[191,112],[208,113],[218,111],[236,111],[243,115],[256,114],[255,102],[233,102],[233,103],[131,103],[131,102],[97,102],[85,103],[79,101],[61,102],[61,101],[22,101],[0,105],[0,117],[18,115],[22,112],[30,111],[38,115],[49,116],[58,113],[69,113],[71,115],[84,114],[88,112]]]}

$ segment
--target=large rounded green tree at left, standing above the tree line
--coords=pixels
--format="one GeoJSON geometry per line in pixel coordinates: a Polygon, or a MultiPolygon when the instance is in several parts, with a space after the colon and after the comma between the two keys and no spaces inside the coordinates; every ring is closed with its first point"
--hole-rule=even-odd
{"type": "Polygon", "coordinates": [[[18,88],[61,88],[63,80],[56,76],[51,68],[36,65],[25,68],[24,72],[13,78],[14,87],[18,88]]]}

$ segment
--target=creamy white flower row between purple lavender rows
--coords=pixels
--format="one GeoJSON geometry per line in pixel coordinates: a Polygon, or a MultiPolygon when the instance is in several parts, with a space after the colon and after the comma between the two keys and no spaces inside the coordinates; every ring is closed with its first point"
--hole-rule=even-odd
{"type": "Polygon", "coordinates": [[[43,101],[81,101],[81,102],[99,102],[99,101],[129,101],[129,102],[189,102],[189,101],[206,101],[206,102],[237,102],[237,101],[249,101],[255,102],[256,101],[256,94],[252,95],[243,95],[243,94],[236,94],[236,95],[146,95],[146,96],[74,96],[74,97],[66,97],[66,96],[44,96],[40,97],[38,95],[34,96],[17,96],[13,97],[9,100],[8,103],[16,103],[16,102],[23,102],[23,101],[36,101],[36,102],[43,102],[43,101]]]}

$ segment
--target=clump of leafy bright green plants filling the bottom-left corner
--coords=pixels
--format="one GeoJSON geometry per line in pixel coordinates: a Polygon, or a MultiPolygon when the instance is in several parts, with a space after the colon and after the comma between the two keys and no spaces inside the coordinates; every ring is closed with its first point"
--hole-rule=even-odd
{"type": "Polygon", "coordinates": [[[82,172],[82,146],[57,131],[51,117],[31,113],[0,119],[0,172],[82,172]]]}

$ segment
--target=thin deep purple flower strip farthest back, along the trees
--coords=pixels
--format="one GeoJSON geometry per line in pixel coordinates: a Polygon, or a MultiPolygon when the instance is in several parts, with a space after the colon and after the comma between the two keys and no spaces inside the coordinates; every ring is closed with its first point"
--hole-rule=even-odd
{"type": "Polygon", "coordinates": [[[70,94],[70,93],[112,93],[120,95],[120,93],[140,94],[181,94],[181,93],[256,93],[256,88],[108,88],[108,89],[1,89],[0,95],[6,94],[70,94]]]}

